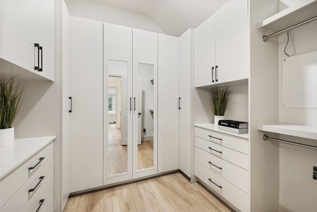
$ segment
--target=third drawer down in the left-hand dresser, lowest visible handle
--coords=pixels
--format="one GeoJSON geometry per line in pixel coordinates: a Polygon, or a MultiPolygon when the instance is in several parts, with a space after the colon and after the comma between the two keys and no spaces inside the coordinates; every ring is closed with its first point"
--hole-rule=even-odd
{"type": "Polygon", "coordinates": [[[47,201],[50,199],[50,196],[53,193],[53,189],[54,189],[54,170],[48,176],[47,180],[41,186],[39,191],[33,196],[30,202],[23,209],[23,212],[35,212],[38,210],[40,206],[41,207],[39,211],[43,210],[42,207],[44,208],[47,201]],[[43,201],[43,204],[41,205],[42,200],[44,201],[43,201]]]}

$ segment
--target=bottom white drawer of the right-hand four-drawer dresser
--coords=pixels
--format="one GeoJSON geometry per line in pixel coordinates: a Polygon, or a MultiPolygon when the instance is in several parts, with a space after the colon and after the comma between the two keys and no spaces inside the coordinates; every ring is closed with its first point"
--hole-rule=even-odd
{"type": "Polygon", "coordinates": [[[213,191],[220,194],[224,199],[226,199],[240,211],[250,211],[249,195],[241,189],[224,180],[222,177],[218,176],[198,162],[195,162],[195,175],[204,183],[206,183],[213,191]],[[221,186],[222,188],[219,188],[214,183],[218,186],[221,186]]]}

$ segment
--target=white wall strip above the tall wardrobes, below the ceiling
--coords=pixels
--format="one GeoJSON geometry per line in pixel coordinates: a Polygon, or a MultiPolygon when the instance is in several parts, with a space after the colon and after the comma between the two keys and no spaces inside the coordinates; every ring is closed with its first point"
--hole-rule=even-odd
{"type": "Polygon", "coordinates": [[[92,0],[67,0],[71,15],[165,34],[147,15],[92,0]]]}

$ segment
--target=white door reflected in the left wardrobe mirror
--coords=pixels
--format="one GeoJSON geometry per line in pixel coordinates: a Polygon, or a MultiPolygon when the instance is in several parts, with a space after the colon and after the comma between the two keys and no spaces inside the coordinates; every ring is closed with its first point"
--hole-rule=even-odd
{"type": "Polygon", "coordinates": [[[128,78],[121,77],[121,145],[128,145],[128,78]]]}

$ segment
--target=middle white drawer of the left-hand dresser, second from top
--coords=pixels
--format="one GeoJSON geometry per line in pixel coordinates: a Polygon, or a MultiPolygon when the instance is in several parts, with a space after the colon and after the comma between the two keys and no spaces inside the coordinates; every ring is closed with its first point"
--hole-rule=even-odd
{"type": "Polygon", "coordinates": [[[53,155],[43,166],[22,186],[22,188],[1,208],[0,212],[20,212],[41,188],[54,166],[53,155]],[[42,180],[41,178],[44,177],[42,180]],[[41,183],[39,183],[41,181],[41,183]],[[39,184],[38,184],[39,183],[39,184]],[[29,190],[35,188],[32,192],[29,190]]]}

